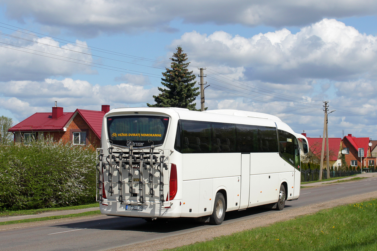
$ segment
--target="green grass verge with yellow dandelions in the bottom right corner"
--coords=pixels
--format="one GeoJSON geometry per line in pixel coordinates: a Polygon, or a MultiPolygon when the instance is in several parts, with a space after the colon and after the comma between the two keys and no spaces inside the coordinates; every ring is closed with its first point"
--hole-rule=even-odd
{"type": "Polygon", "coordinates": [[[377,200],[319,211],[268,227],[216,237],[174,251],[377,250],[377,200]]]}

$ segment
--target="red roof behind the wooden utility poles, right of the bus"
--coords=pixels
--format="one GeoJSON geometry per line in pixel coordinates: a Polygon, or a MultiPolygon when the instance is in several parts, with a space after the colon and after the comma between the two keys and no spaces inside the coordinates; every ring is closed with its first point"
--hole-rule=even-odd
{"type": "MultiPolygon", "coordinates": [[[[309,138],[308,144],[309,149],[311,152],[313,152],[314,155],[321,157],[321,151],[322,151],[322,140],[323,138],[309,138]]],[[[329,160],[336,161],[338,160],[339,155],[339,149],[340,149],[340,143],[342,142],[342,138],[328,138],[329,140],[329,160]]],[[[326,155],[326,141],[325,141],[325,152],[326,155]]]]}

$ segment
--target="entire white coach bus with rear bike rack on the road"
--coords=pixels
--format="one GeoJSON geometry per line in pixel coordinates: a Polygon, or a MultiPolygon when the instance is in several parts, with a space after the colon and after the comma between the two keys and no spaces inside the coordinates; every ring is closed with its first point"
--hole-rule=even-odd
{"type": "Polygon", "coordinates": [[[221,224],[225,212],[300,195],[307,139],[278,117],[239,110],[116,108],[97,149],[102,214],[193,217],[221,224]]]}

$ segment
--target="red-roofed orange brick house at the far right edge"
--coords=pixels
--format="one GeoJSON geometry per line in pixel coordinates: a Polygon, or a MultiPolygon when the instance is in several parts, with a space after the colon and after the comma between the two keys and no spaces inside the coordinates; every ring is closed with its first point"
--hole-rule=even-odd
{"type": "Polygon", "coordinates": [[[361,161],[363,161],[363,167],[376,166],[376,157],[372,156],[369,138],[357,138],[353,137],[352,134],[348,134],[343,138],[342,142],[348,165],[361,167],[361,161]],[[363,148],[364,150],[362,158],[359,157],[359,148],[363,148]]]}

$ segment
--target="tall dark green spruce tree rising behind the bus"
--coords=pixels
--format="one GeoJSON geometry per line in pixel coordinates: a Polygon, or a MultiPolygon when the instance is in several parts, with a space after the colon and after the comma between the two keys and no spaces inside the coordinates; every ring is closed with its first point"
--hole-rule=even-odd
{"type": "Polygon", "coordinates": [[[198,111],[195,106],[195,98],[200,94],[199,87],[195,87],[196,81],[193,71],[189,71],[187,67],[190,62],[187,61],[187,53],[183,53],[182,47],[176,48],[177,52],[170,58],[172,61],[170,68],[162,73],[161,84],[166,88],[158,87],[161,91],[158,96],[153,96],[156,104],[149,107],[179,107],[189,110],[198,111]]]}

